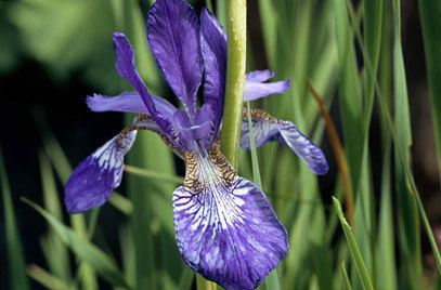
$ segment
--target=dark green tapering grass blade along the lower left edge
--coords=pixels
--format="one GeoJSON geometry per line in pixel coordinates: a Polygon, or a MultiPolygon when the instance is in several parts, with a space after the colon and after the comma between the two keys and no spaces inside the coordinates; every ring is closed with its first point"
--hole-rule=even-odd
{"type": "Polygon", "coordinates": [[[17,220],[12,202],[11,188],[8,182],[7,169],[0,147],[0,184],[4,212],[4,234],[8,253],[8,277],[10,289],[27,290],[29,282],[26,277],[25,258],[22,239],[20,237],[17,220]]]}

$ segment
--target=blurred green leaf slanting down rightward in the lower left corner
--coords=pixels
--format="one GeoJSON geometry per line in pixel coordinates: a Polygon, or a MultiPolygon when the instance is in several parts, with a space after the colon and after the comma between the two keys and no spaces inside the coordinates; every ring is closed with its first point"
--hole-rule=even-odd
{"type": "Polygon", "coordinates": [[[43,210],[37,203],[24,197],[22,200],[40,213],[52,229],[59,235],[62,241],[69,247],[81,261],[85,261],[91,265],[103,279],[113,286],[130,288],[115,262],[112,261],[104,252],[78,235],[76,232],[65,226],[56,217],[43,210]]]}

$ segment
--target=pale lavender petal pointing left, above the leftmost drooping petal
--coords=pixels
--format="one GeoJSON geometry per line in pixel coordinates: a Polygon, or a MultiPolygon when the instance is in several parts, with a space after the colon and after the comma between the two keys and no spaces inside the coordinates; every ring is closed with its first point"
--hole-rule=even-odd
{"type": "MultiPolygon", "coordinates": [[[[164,116],[171,116],[177,108],[167,100],[152,95],[156,109],[164,116]]],[[[93,94],[87,104],[93,111],[124,111],[150,115],[141,96],[137,92],[124,92],[117,96],[93,94]]]]}

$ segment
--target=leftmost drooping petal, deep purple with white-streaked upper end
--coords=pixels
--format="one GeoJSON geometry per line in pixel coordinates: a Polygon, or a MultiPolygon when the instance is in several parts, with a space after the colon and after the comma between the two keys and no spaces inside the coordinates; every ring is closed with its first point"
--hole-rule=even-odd
{"type": "Polygon", "coordinates": [[[102,206],[122,177],[124,157],[133,145],[137,131],[115,136],[82,160],[64,188],[64,203],[69,213],[80,213],[102,206]]]}

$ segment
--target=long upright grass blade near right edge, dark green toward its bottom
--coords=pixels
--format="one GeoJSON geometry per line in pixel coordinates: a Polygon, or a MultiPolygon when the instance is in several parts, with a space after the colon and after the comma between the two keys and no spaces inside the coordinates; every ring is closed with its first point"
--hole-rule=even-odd
{"type": "Polygon", "coordinates": [[[402,252],[401,278],[413,289],[421,287],[423,265],[419,238],[419,221],[415,196],[406,187],[406,172],[411,170],[412,130],[408,111],[408,94],[401,44],[400,1],[393,1],[393,89],[395,129],[395,188],[398,201],[399,238],[402,252]]]}

